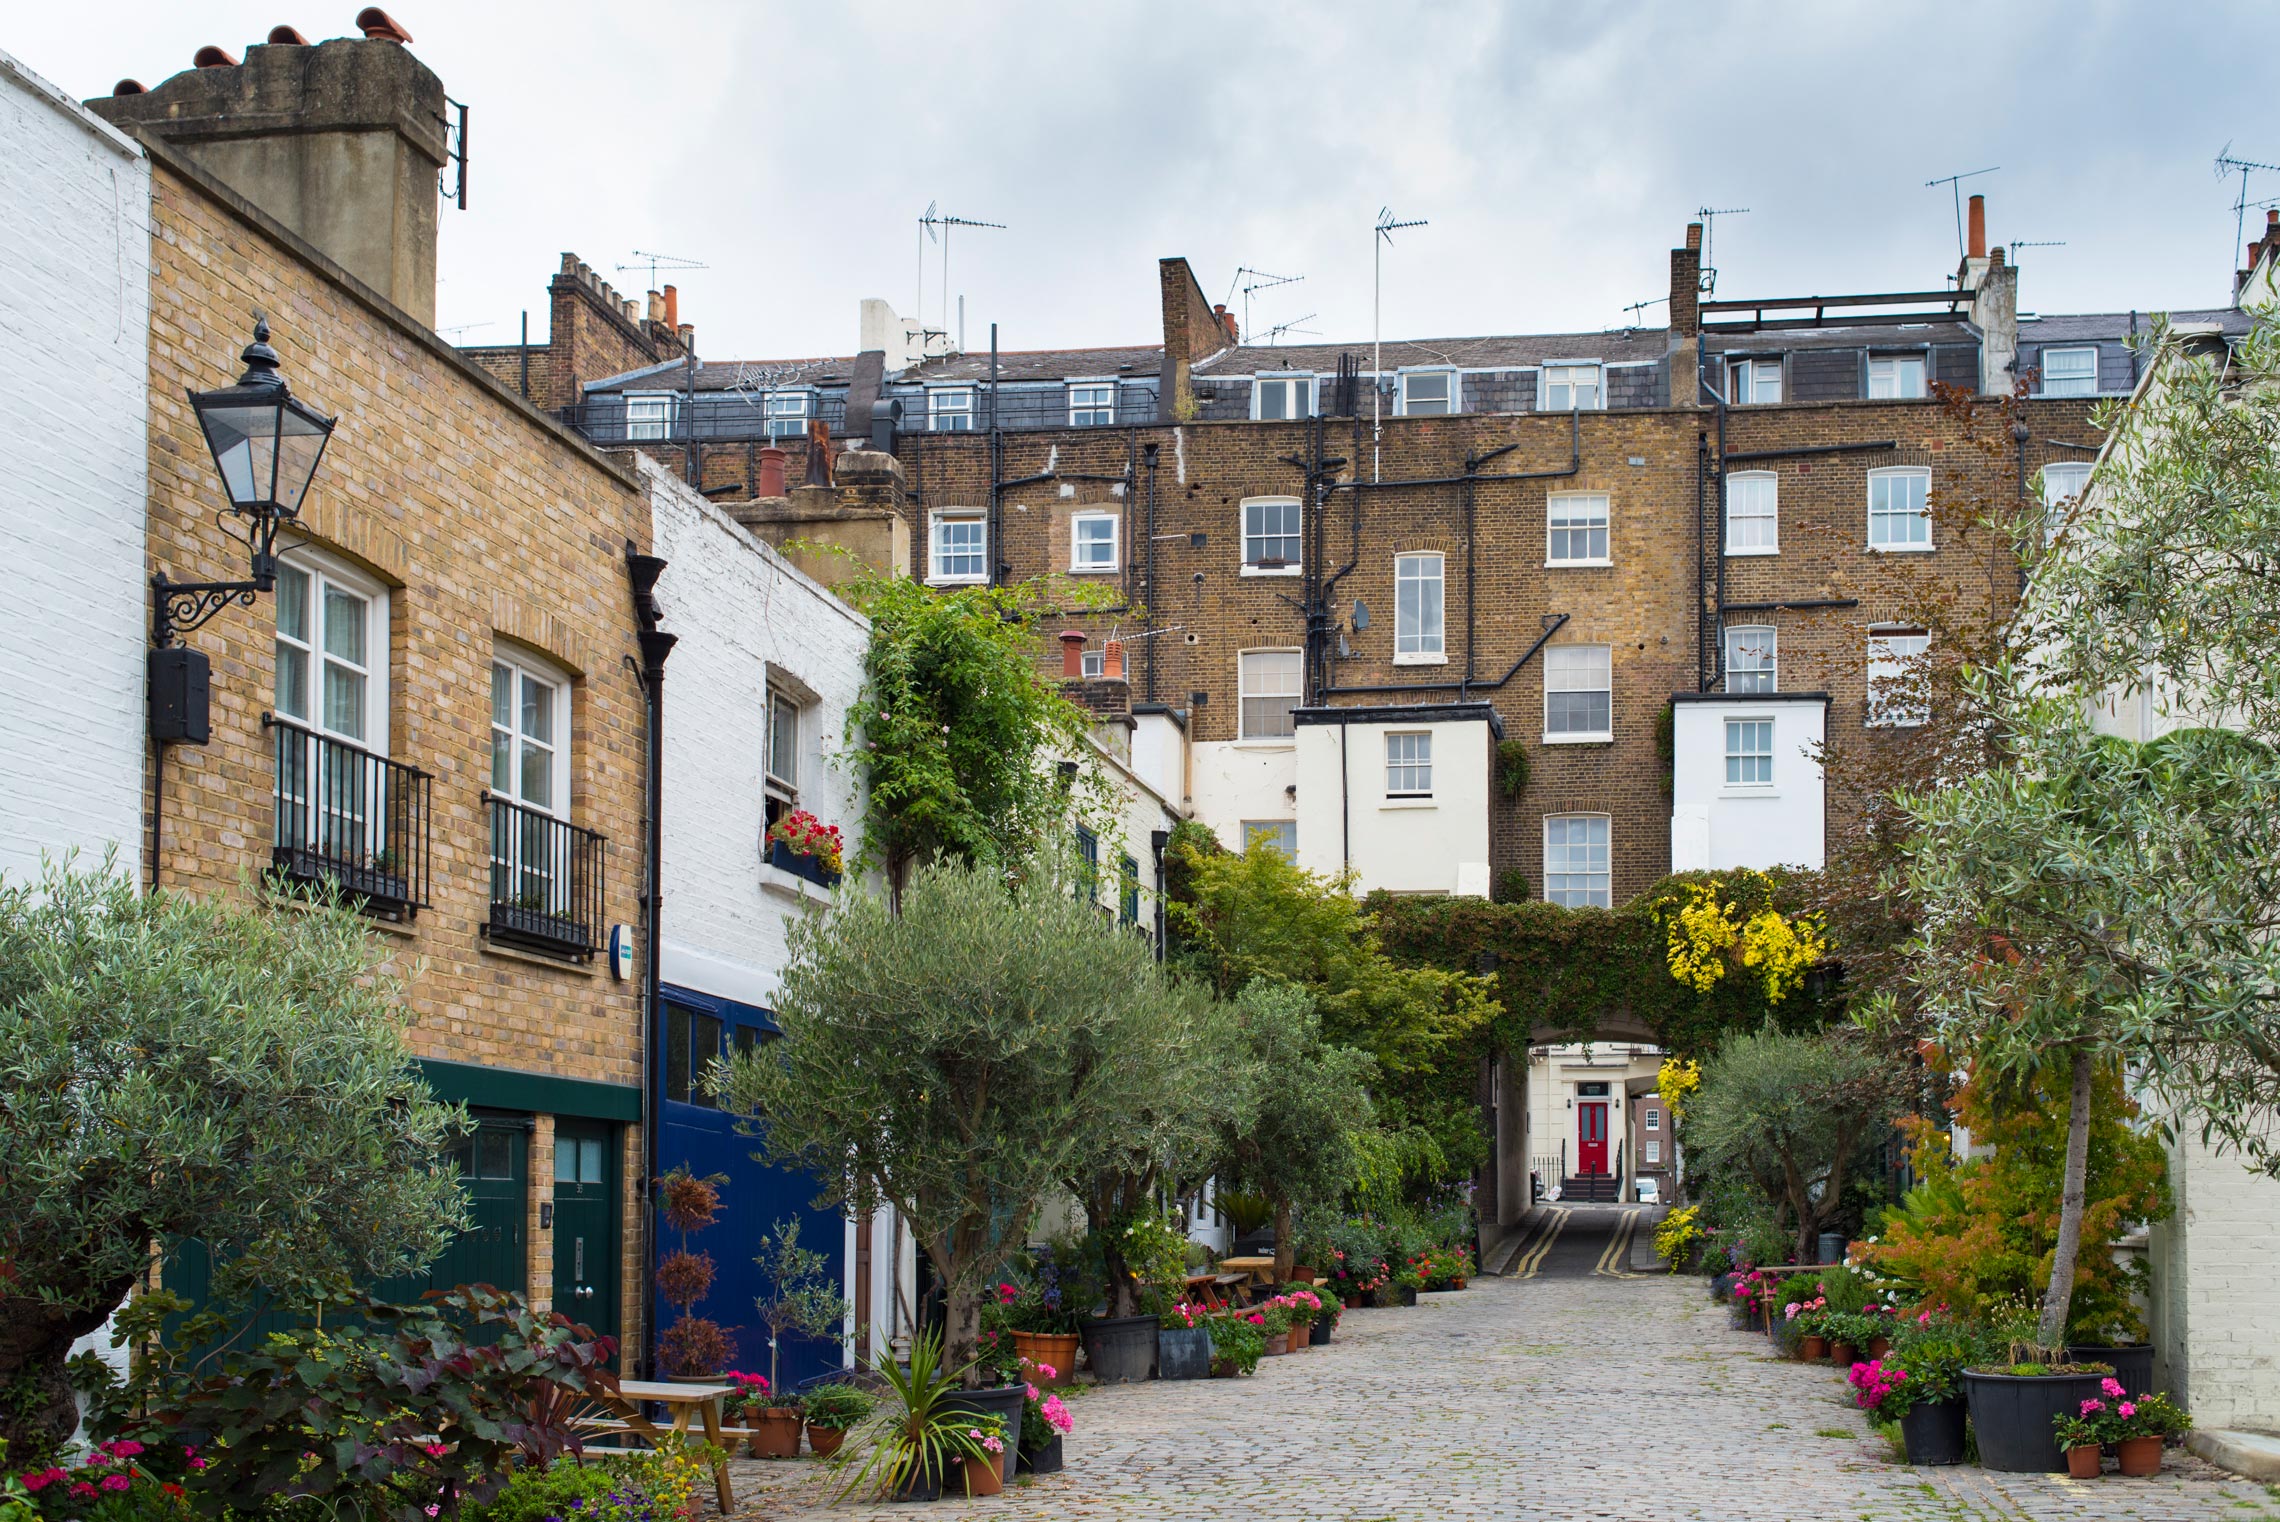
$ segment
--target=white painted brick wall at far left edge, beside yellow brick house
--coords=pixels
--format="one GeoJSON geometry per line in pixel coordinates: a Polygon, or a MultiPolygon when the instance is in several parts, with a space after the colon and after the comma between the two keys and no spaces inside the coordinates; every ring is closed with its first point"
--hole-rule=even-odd
{"type": "Polygon", "coordinates": [[[5,52],[0,335],[0,875],[114,843],[135,870],[150,169],[5,52]]]}

